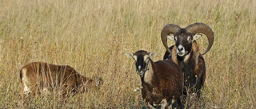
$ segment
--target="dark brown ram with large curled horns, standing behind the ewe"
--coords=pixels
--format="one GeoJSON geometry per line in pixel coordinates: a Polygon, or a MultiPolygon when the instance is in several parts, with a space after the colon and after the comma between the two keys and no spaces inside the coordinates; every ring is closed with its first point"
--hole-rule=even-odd
{"type": "Polygon", "coordinates": [[[162,29],[162,44],[166,48],[164,60],[172,60],[178,64],[184,73],[184,94],[197,93],[200,97],[200,89],[206,79],[206,64],[202,55],[206,54],[214,43],[214,32],[210,27],[203,23],[194,23],[181,28],[178,25],[169,24],[162,29]],[[208,38],[209,45],[206,52],[199,53],[196,42],[203,33],[208,38]],[[175,45],[168,48],[167,38],[175,41],[175,45]],[[189,91],[188,90],[191,90],[189,91]]]}

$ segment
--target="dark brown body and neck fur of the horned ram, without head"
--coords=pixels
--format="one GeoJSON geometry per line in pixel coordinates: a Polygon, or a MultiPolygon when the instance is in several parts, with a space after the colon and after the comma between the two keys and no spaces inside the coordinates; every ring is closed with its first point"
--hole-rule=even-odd
{"type": "MultiPolygon", "coordinates": [[[[165,56],[164,60],[172,60],[178,64],[179,68],[181,68],[182,72],[184,73],[184,86],[186,88],[195,88],[195,92],[198,93],[199,97],[200,89],[202,88],[206,79],[206,64],[202,54],[199,53],[198,44],[196,41],[193,42],[190,56],[188,57],[187,61],[179,61],[177,59],[176,46],[171,47],[170,51],[172,52],[171,56],[169,58],[165,56]]],[[[170,53],[166,51],[166,55],[170,55],[170,53]]],[[[191,92],[194,91],[190,91],[190,93],[191,92]]]]}

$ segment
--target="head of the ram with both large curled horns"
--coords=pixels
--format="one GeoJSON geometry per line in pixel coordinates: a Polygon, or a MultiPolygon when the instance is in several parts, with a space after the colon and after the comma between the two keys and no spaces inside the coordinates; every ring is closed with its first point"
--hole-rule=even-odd
{"type": "Polygon", "coordinates": [[[183,29],[174,24],[166,25],[161,33],[162,44],[166,47],[166,50],[171,53],[167,45],[167,38],[171,41],[175,41],[177,56],[186,56],[191,52],[193,42],[202,37],[200,33],[205,34],[208,38],[209,45],[205,52],[207,53],[214,43],[214,32],[208,25],[203,23],[194,23],[183,29]]]}

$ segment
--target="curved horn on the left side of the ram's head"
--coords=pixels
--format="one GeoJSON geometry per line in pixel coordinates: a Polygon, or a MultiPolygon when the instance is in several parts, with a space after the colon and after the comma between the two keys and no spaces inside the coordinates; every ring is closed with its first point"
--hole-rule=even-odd
{"type": "Polygon", "coordinates": [[[162,39],[162,44],[165,46],[166,50],[170,53],[170,49],[168,48],[167,45],[167,36],[170,35],[170,33],[175,34],[178,32],[178,30],[182,29],[178,25],[174,24],[168,24],[165,27],[163,27],[162,32],[161,32],[161,39],[162,39]]]}

